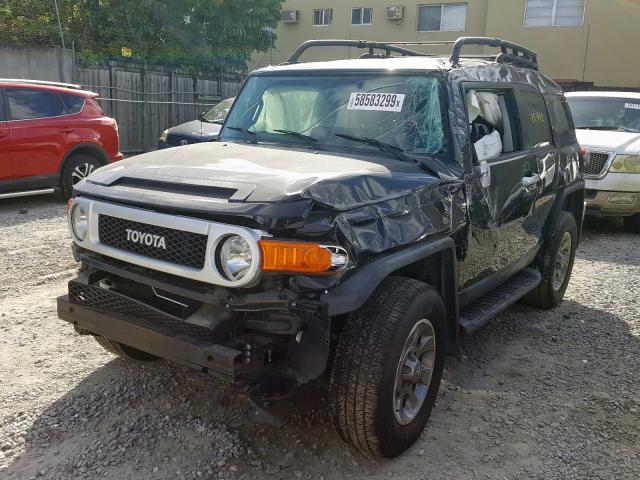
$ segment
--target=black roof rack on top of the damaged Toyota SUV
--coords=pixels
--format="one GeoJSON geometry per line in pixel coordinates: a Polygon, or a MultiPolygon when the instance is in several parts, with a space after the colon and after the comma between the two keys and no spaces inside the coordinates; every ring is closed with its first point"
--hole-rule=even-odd
{"type": "Polygon", "coordinates": [[[436,54],[416,52],[406,48],[407,46],[443,46],[453,45],[449,60],[451,64],[457,66],[461,58],[479,58],[491,60],[497,63],[511,64],[519,67],[527,67],[538,70],[538,54],[517,43],[508,42],[500,38],[491,37],[460,37],[456,41],[434,41],[434,42],[370,42],[367,40],[307,40],[302,43],[296,51],[285,62],[285,65],[299,63],[300,57],[310,48],[315,47],[351,47],[368,49],[360,58],[391,57],[392,53],[399,53],[402,56],[410,57],[434,57],[436,54]],[[487,46],[499,48],[498,55],[462,55],[462,48],[469,45],[487,46]],[[384,55],[376,54],[375,50],[384,52],[384,55]]]}

